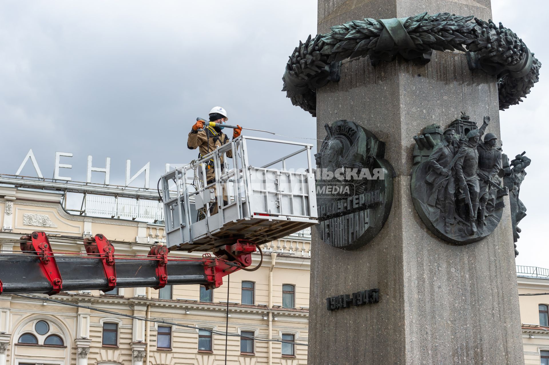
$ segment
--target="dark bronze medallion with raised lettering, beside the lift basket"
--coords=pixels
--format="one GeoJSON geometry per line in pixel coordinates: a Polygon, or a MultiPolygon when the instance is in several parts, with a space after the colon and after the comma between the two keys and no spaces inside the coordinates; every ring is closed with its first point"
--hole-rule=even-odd
{"type": "Polygon", "coordinates": [[[349,120],[324,128],[327,136],[315,155],[318,233],[330,246],[356,249],[389,217],[395,173],[384,159],[385,143],[372,132],[349,120]]]}

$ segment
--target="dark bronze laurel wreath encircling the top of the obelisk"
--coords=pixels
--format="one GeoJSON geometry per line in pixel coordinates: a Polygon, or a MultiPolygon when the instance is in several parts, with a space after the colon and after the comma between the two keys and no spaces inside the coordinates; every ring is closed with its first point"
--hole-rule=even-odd
{"type": "Polygon", "coordinates": [[[472,19],[450,13],[390,19],[401,27],[396,37],[393,26],[388,30],[383,20],[366,18],[333,26],[332,32],[299,42],[286,65],[282,91],[292,104],[316,116],[316,89],[338,80],[334,69],[341,60],[369,56],[376,65],[400,54],[408,60],[428,62],[433,49],[458,49],[467,52],[470,68],[498,77],[500,110],[522,102],[539,80],[540,61],[501,23],[496,26],[491,20],[487,23],[477,18],[473,23],[472,19]]]}

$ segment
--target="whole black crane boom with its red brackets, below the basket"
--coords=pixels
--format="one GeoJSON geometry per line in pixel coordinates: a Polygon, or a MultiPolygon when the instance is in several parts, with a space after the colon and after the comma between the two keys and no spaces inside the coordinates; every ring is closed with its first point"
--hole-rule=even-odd
{"type": "Polygon", "coordinates": [[[0,255],[0,294],[57,294],[68,290],[103,290],[115,287],[163,288],[173,284],[220,287],[223,276],[251,264],[256,245],[245,239],[214,249],[201,259],[168,255],[166,246],[153,246],[148,255],[115,255],[102,234],[84,242],[86,254],[54,255],[44,232],[21,237],[21,251],[0,255]]]}

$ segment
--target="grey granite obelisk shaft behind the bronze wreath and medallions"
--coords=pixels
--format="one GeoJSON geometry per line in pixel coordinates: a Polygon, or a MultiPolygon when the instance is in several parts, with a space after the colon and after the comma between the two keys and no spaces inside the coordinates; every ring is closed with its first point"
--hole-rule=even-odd
{"type": "MultiPolygon", "coordinates": [[[[318,32],[363,18],[450,12],[491,19],[490,0],[318,0],[318,32]]],[[[497,21],[496,21],[497,23],[497,21]]],[[[430,63],[344,61],[341,80],[317,91],[317,135],[347,119],[386,143],[396,171],[382,231],[357,250],[323,243],[313,229],[309,363],[524,364],[511,215],[480,242],[451,245],[430,233],[410,193],[413,136],[466,111],[500,136],[496,78],[469,70],[463,52],[430,63]],[[327,311],[325,299],[379,288],[377,304],[327,311]]]]}

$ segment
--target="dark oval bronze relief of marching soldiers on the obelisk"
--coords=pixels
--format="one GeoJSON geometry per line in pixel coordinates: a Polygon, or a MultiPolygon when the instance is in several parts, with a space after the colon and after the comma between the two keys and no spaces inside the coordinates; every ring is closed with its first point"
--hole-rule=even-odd
{"type": "Polygon", "coordinates": [[[414,137],[411,192],[422,221],[457,244],[483,239],[501,220],[507,195],[501,143],[462,113],[444,130],[430,125],[414,137]],[[498,147],[498,145],[500,147],[498,147]]]}

